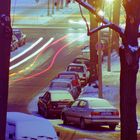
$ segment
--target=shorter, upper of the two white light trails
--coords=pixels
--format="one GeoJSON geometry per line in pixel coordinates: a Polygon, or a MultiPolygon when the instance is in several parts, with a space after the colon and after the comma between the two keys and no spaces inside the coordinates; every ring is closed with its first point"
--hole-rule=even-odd
{"type": "Polygon", "coordinates": [[[30,51],[31,49],[33,49],[37,44],[39,44],[41,41],[43,40],[43,37],[39,38],[34,44],[32,44],[28,49],[24,50],[23,52],[21,52],[20,54],[16,55],[15,57],[10,59],[10,62],[14,61],[15,59],[19,58],[20,56],[24,55],[25,53],[27,53],[28,51],[30,51]]]}

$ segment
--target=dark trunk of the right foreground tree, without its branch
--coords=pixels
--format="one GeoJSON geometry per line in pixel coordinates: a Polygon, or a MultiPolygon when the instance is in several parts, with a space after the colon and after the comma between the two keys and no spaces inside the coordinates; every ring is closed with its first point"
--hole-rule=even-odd
{"type": "Polygon", "coordinates": [[[120,49],[120,111],[121,140],[137,140],[136,81],[139,69],[138,46],[139,22],[127,14],[123,38],[125,49],[120,49]],[[130,48],[131,47],[131,48],[130,48]]]}

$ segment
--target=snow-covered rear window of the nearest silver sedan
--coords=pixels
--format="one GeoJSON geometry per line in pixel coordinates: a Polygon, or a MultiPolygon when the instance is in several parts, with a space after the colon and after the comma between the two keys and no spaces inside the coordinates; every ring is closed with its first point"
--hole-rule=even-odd
{"type": "Polygon", "coordinates": [[[90,100],[89,107],[112,107],[112,105],[106,100],[90,100]]]}

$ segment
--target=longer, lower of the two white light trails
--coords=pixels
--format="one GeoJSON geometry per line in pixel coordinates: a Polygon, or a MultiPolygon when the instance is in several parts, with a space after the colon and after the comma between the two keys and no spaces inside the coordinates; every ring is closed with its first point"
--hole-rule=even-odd
{"type": "Polygon", "coordinates": [[[25,63],[26,61],[28,61],[29,59],[33,58],[35,55],[37,55],[38,53],[40,53],[44,48],[46,48],[52,41],[54,40],[54,38],[51,38],[47,43],[45,43],[40,49],[38,49],[36,52],[34,52],[33,54],[31,54],[30,56],[26,57],[25,59],[23,59],[22,61],[20,61],[19,63],[13,65],[10,67],[10,70],[18,67],[19,65],[25,63]]]}

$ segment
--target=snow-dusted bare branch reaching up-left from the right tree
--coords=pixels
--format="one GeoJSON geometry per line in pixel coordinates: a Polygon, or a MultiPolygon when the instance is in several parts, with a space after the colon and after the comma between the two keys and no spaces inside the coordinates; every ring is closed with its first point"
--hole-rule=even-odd
{"type": "MultiPolygon", "coordinates": [[[[96,8],[94,6],[91,6],[89,3],[85,2],[85,1],[82,1],[82,0],[76,0],[76,2],[78,2],[80,5],[82,5],[83,7],[88,9],[91,13],[93,13],[97,17],[97,19],[99,19],[102,23],[104,23],[106,25],[110,25],[108,27],[111,28],[112,30],[115,30],[116,32],[118,32],[120,37],[124,36],[124,30],[121,27],[117,26],[116,24],[113,24],[109,20],[107,20],[104,17],[100,16],[98,14],[98,11],[96,10],[96,8]]],[[[98,30],[100,30],[100,29],[102,29],[102,28],[99,27],[98,30]]],[[[95,31],[98,31],[98,30],[95,29],[95,31]]],[[[95,32],[95,31],[93,31],[93,32],[95,32]]]]}

